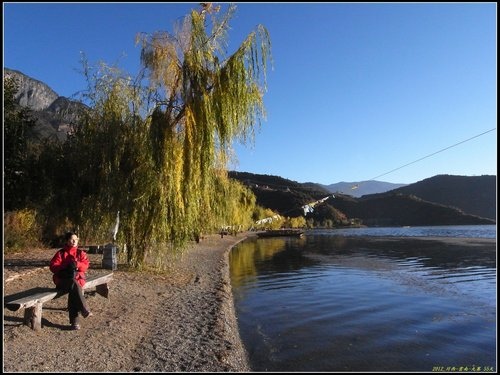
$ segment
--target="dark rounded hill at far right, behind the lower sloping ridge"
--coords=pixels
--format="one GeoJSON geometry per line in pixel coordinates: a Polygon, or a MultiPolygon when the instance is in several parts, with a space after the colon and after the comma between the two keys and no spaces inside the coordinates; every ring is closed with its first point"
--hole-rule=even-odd
{"type": "Polygon", "coordinates": [[[429,202],[456,207],[471,215],[496,220],[496,180],[497,177],[491,175],[437,175],[391,190],[386,195],[414,195],[429,202]]]}

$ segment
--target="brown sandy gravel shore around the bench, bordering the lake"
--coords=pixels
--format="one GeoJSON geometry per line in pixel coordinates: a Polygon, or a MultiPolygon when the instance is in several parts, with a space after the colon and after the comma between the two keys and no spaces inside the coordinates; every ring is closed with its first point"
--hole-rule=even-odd
{"type": "MultiPolygon", "coordinates": [[[[88,294],[93,312],[68,330],[67,297],[43,306],[42,330],[4,308],[6,372],[248,372],[229,279],[229,250],[246,235],[207,236],[172,259],[169,272],[114,271],[110,298],[88,294]]],[[[6,255],[4,295],[52,287],[57,249],[6,255]]],[[[89,275],[102,269],[89,254],[89,275]]]]}

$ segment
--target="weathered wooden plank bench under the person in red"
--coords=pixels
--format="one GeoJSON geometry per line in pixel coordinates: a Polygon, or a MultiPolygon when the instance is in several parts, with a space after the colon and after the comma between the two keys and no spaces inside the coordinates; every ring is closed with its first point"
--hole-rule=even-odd
{"type": "MultiPolygon", "coordinates": [[[[92,276],[87,279],[83,290],[96,288],[96,292],[108,298],[108,283],[113,279],[113,273],[92,276]]],[[[67,293],[61,293],[56,288],[34,288],[28,291],[5,297],[4,304],[10,311],[24,309],[24,324],[35,331],[42,328],[42,306],[45,302],[62,297],[67,293]]]]}

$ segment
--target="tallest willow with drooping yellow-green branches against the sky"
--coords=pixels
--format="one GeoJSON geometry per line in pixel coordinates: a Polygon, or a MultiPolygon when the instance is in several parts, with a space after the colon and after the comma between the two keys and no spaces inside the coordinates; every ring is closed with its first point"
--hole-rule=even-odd
{"type": "Polygon", "coordinates": [[[221,193],[227,191],[231,145],[251,140],[265,116],[269,35],[259,25],[228,56],[227,31],[235,9],[230,5],[219,16],[208,4],[193,10],[174,34],[137,37],[157,99],[150,124],[153,160],[162,195],[168,197],[162,217],[174,241],[206,229],[211,216],[225,209],[228,197],[221,193]]]}

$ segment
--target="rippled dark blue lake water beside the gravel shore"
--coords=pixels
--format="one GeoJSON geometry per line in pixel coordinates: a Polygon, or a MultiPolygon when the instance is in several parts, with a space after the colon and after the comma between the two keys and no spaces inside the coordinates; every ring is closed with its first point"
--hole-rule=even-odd
{"type": "Polygon", "coordinates": [[[434,236],[495,239],[496,226],[321,230],[238,244],[231,283],[252,370],[496,371],[496,241],[412,238],[434,236]]]}

